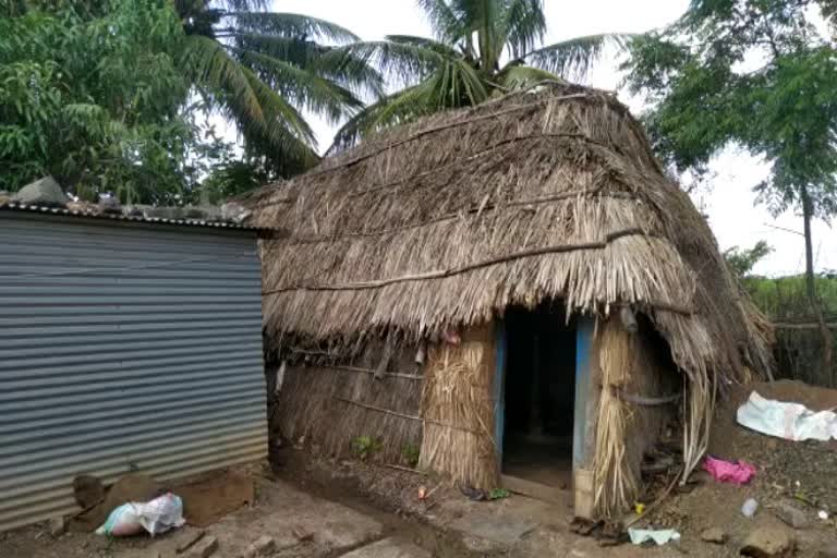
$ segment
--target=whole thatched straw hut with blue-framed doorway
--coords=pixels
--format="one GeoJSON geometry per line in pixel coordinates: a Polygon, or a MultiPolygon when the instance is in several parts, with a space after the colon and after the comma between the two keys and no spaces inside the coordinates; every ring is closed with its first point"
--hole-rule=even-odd
{"type": "Polygon", "coordinates": [[[667,425],[689,472],[718,388],[768,373],[764,320],[605,92],[427,118],[251,204],[286,231],[262,242],[275,426],[322,451],[480,488],[574,471],[610,515],[667,425]]]}

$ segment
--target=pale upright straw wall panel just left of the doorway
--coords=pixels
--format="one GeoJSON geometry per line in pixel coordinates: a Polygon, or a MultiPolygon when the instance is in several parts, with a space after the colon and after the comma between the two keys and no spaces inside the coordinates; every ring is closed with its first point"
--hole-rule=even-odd
{"type": "Polygon", "coordinates": [[[499,485],[493,331],[488,323],[466,330],[459,345],[432,347],[422,395],[420,469],[483,489],[499,485]]]}

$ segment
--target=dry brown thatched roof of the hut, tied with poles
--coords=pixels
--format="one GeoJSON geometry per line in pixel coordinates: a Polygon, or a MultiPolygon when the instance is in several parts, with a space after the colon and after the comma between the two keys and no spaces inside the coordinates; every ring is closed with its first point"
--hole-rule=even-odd
{"type": "Polygon", "coordinates": [[[378,134],[252,198],[272,339],[417,338],[561,299],[631,304],[693,379],[769,363],[689,196],[607,93],[550,85],[378,134]],[[714,372],[714,374],[707,374],[714,372]]]}

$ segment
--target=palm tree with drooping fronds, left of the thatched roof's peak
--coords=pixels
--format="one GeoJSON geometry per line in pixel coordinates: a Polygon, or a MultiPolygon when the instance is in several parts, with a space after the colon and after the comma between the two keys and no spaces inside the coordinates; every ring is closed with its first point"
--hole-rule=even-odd
{"type": "Polygon", "coordinates": [[[185,31],[182,68],[208,106],[235,122],[245,151],[289,175],[317,161],[302,111],[337,123],[378,98],[380,74],[354,52],[348,29],[267,10],[265,0],[175,0],[185,31]],[[328,41],[333,46],[324,46],[328,41]]]}

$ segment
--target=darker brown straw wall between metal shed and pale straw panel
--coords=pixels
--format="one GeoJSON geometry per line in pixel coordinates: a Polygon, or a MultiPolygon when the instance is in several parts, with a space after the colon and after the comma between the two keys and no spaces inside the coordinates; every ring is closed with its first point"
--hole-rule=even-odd
{"type": "Polygon", "coordinates": [[[378,445],[368,459],[401,463],[404,448],[421,442],[421,371],[410,348],[375,379],[369,363],[380,357],[377,349],[349,364],[289,366],[271,428],[294,442],[304,436],[306,446],[329,456],[350,456],[352,440],[368,436],[378,445]]]}

